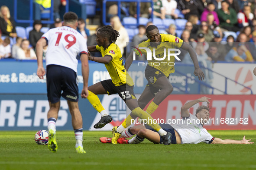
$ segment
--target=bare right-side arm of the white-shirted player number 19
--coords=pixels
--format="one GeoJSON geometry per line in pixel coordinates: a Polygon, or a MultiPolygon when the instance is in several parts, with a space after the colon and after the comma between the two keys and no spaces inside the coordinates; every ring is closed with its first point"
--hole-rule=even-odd
{"type": "Polygon", "coordinates": [[[84,86],[81,93],[81,98],[87,98],[88,96],[88,77],[89,77],[89,64],[87,54],[81,54],[81,64],[82,64],[82,76],[84,80],[84,86]]]}

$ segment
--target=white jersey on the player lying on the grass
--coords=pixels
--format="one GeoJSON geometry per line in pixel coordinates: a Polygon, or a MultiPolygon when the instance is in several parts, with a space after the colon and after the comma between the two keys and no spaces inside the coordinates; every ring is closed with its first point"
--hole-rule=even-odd
{"type": "Polygon", "coordinates": [[[196,123],[195,120],[198,120],[196,116],[189,113],[189,117],[182,118],[182,120],[182,123],[170,124],[181,136],[182,144],[211,143],[214,140],[214,137],[207,132],[201,123],[196,123]]]}

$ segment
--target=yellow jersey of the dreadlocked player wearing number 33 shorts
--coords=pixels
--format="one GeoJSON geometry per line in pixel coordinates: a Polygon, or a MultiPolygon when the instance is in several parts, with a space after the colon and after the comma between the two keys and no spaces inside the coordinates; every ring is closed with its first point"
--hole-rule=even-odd
{"type": "Polygon", "coordinates": [[[122,54],[117,44],[112,43],[105,50],[102,46],[100,47],[97,45],[96,49],[100,51],[102,57],[105,55],[112,57],[110,63],[105,64],[105,66],[109,72],[113,84],[115,86],[125,84],[133,86],[133,79],[129,76],[124,68],[122,54]]]}

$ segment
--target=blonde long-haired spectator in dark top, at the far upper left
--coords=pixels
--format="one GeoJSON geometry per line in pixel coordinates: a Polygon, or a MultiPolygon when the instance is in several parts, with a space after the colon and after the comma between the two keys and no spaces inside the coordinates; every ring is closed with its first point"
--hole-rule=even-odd
{"type": "Polygon", "coordinates": [[[2,35],[12,38],[17,37],[14,20],[10,16],[9,8],[5,5],[0,8],[0,30],[2,31],[2,35]]]}

